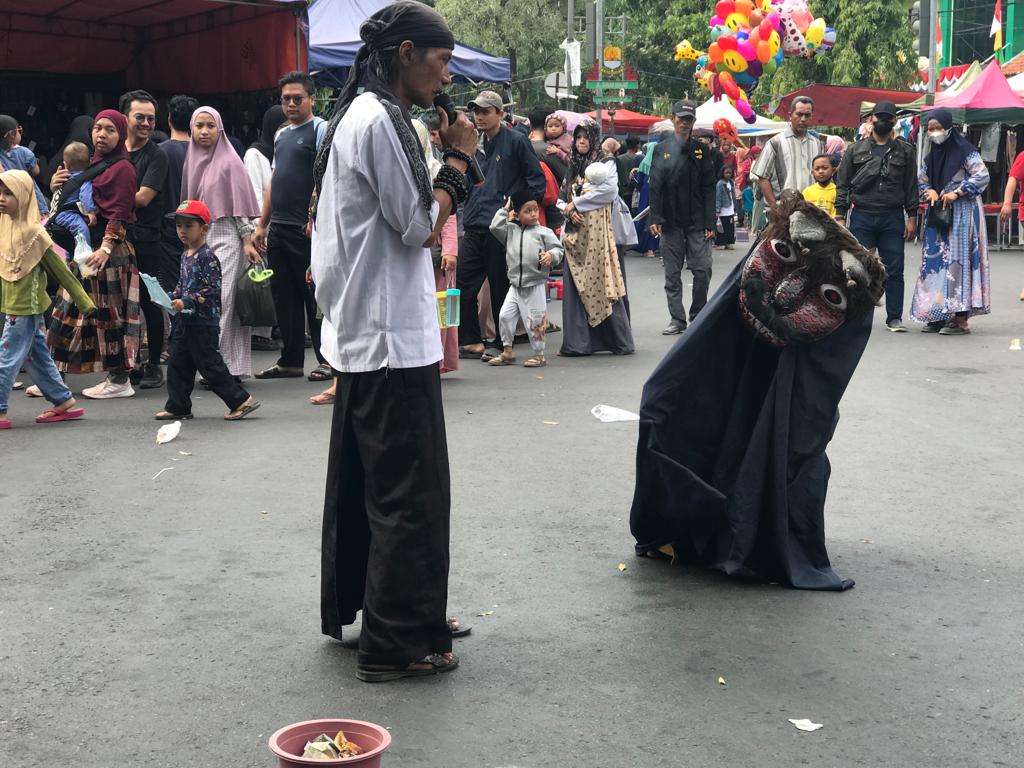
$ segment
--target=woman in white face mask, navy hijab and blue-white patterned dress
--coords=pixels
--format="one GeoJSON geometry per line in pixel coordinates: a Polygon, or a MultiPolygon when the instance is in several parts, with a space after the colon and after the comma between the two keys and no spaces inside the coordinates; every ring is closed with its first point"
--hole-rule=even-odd
{"type": "Polygon", "coordinates": [[[963,336],[968,318],[991,311],[988,238],[981,196],[988,170],[943,108],[929,113],[931,151],[918,180],[931,206],[910,316],[925,333],[963,336]]]}

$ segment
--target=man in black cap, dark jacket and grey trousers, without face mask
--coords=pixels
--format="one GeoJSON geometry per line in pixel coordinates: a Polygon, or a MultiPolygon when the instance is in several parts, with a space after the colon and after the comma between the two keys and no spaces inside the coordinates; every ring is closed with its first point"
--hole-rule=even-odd
{"type": "Polygon", "coordinates": [[[662,332],[665,336],[686,330],[683,267],[693,275],[691,322],[708,303],[711,284],[717,178],[709,147],[690,135],[695,119],[692,101],[676,101],[672,108],[675,134],[654,147],[650,171],[650,233],[662,239],[665,293],[672,317],[662,332]]]}

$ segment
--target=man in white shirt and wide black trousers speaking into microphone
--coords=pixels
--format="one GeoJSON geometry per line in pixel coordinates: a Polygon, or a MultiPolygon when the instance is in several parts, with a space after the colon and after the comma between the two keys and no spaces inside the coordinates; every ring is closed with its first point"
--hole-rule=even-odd
{"type": "Polygon", "coordinates": [[[314,165],[312,273],[323,352],[339,372],[324,506],[323,632],[362,610],[367,682],[458,666],[446,618],[450,478],[434,242],[468,187],[476,130],[441,118],[431,182],[409,109],[451,83],[455,40],[432,8],[385,6],[364,41],[314,165]],[[355,96],[360,78],[366,92],[355,96]]]}

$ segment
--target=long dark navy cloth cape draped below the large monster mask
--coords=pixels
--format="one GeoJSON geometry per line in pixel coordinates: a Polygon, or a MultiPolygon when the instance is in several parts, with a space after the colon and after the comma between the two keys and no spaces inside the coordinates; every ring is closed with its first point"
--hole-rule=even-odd
{"type": "Polygon", "coordinates": [[[848,589],[825,551],[825,446],[871,313],[812,344],[772,347],[740,317],[742,264],[644,385],[637,554],[672,544],[680,559],[729,575],[848,589]]]}

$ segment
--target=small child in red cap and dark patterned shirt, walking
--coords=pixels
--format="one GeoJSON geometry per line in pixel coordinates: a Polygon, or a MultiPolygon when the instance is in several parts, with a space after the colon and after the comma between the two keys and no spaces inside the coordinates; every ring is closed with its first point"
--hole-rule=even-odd
{"type": "Polygon", "coordinates": [[[220,356],[220,262],[206,245],[210,209],[199,200],[184,200],[174,213],[178,240],[185,246],[181,272],[171,295],[177,312],[171,331],[171,357],[167,361],[167,406],[159,421],[191,419],[191,391],[196,372],[230,411],[227,421],[244,419],[259,408],[231,376],[220,356]]]}

